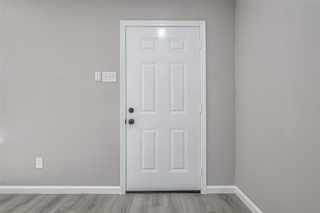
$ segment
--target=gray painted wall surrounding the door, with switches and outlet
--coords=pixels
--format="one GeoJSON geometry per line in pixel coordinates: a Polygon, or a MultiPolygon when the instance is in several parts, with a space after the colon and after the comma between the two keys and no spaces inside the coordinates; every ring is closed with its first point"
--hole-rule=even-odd
{"type": "Polygon", "coordinates": [[[1,185],[118,186],[119,20],[206,20],[207,184],[234,185],[234,1],[1,1],[1,185]],[[43,169],[35,169],[43,157],[43,169]]]}

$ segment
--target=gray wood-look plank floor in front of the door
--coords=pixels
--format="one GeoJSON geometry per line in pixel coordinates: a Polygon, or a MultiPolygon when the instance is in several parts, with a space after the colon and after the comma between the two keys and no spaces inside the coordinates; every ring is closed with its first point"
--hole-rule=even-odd
{"type": "Polygon", "coordinates": [[[235,194],[1,194],[0,213],[251,213],[235,194]]]}

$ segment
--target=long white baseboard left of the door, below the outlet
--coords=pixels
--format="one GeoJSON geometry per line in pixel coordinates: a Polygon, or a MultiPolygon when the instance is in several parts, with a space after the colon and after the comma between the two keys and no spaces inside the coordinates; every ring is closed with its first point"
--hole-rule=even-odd
{"type": "Polygon", "coordinates": [[[119,194],[119,186],[0,186],[0,194],[119,194]]]}

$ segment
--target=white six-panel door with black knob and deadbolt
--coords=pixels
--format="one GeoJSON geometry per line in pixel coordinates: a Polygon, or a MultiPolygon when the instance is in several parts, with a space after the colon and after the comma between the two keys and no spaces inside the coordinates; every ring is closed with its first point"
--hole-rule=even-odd
{"type": "Polygon", "coordinates": [[[199,48],[199,27],[126,27],[127,191],[200,190],[199,48]]]}

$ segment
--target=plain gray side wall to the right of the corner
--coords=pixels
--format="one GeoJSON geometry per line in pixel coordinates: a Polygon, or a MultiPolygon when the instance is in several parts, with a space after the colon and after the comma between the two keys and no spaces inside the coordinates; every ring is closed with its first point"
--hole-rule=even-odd
{"type": "Polygon", "coordinates": [[[320,209],[320,1],[236,1],[236,186],[263,213],[320,209]]]}

